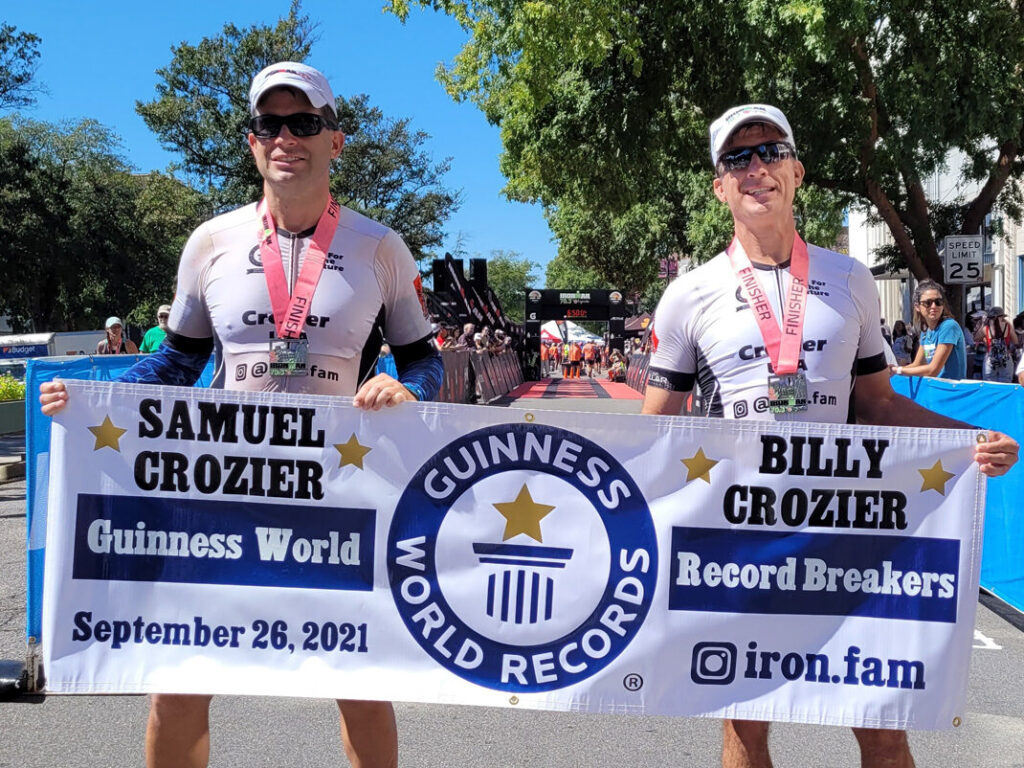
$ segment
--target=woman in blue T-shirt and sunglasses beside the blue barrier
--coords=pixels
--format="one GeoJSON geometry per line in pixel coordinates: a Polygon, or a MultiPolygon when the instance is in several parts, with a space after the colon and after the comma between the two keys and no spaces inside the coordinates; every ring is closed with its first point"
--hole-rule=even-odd
{"type": "Polygon", "coordinates": [[[921,346],[913,362],[896,366],[903,376],[935,376],[963,379],[967,374],[964,332],[953,319],[942,286],[922,281],[913,292],[913,318],[921,327],[921,346]]]}

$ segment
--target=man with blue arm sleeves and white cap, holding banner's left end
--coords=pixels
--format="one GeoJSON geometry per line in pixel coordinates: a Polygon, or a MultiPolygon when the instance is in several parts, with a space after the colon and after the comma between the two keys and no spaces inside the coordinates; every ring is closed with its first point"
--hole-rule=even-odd
{"type": "MultiPolygon", "coordinates": [[[[302,63],[271,65],[253,79],[249,104],[249,147],[263,200],[193,233],[167,338],[122,380],[189,386],[216,346],[213,386],[354,395],[353,403],[368,410],[436,396],[443,369],[409,249],[394,231],[331,197],[331,163],[345,136],[326,78],[302,63]],[[385,340],[397,379],[374,375],[385,340]]],[[[43,413],[56,413],[66,400],[62,384],[41,387],[43,413]]],[[[153,696],[150,768],[208,763],[210,698],[153,696]]],[[[391,705],[338,707],[352,765],[396,766],[391,705]]]]}

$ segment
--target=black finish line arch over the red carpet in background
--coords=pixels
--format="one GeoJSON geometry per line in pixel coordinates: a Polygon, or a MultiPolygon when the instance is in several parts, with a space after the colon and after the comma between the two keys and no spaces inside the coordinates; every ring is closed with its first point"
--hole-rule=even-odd
{"type": "Polygon", "coordinates": [[[603,288],[562,291],[527,288],[523,330],[523,378],[541,378],[541,326],[548,321],[573,323],[597,321],[608,324],[608,347],[623,351],[626,336],[626,299],[622,291],[603,288]]]}

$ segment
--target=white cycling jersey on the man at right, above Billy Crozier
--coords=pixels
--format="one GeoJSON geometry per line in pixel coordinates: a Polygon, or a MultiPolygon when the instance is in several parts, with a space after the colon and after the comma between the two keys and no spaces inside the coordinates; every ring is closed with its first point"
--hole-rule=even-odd
{"type": "MultiPolygon", "coordinates": [[[[777,421],[848,421],[857,374],[886,368],[879,295],[860,262],[808,245],[807,309],[800,369],[807,376],[808,408],[768,411],[771,361],[757,321],[725,252],[681,274],[654,313],[654,351],[647,385],[687,391],[694,378],[709,416],[777,421]]],[[[754,264],[776,319],[790,290],[788,262],[754,264]]]]}

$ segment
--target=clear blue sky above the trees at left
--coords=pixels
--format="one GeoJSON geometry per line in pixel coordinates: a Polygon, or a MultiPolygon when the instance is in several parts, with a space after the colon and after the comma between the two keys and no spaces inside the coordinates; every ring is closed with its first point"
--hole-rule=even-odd
{"type": "MultiPolygon", "coordinates": [[[[319,41],[308,63],[322,70],[335,93],[367,93],[389,117],[409,117],[431,135],[435,160],[452,158],[449,186],[463,204],[447,222],[445,247],[461,233],[470,254],[517,251],[546,265],[556,253],[539,206],[509,203],[501,195],[501,138],[471,103],[455,103],[434,79],[465,34],[447,16],[415,10],[402,25],[381,11],[382,0],[306,0],[303,11],[319,23],[319,41]]],[[[42,38],[36,78],[46,88],[36,120],[94,118],[124,142],[123,155],[139,171],[163,170],[175,158],[135,114],[136,100],[156,96],[156,70],[171,46],[217,35],[224,24],[270,25],[288,12],[288,0],[214,0],[146,3],[29,0],[4,3],[0,20],[42,38]]],[[[543,279],[543,266],[540,270],[543,279]]]]}

